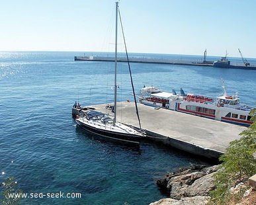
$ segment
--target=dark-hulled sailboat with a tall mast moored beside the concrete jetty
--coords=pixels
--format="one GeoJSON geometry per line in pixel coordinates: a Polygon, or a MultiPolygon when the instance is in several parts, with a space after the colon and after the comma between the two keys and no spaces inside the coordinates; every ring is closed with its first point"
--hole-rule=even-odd
{"type": "MultiPolygon", "coordinates": [[[[144,137],[143,132],[140,130],[135,130],[134,128],[117,122],[116,120],[116,96],[117,96],[117,84],[116,84],[116,72],[117,72],[117,26],[118,26],[118,2],[116,2],[116,35],[115,35],[115,74],[114,74],[114,117],[111,118],[108,114],[99,112],[93,108],[81,108],[77,104],[75,104],[72,108],[72,114],[75,116],[75,122],[77,125],[85,128],[89,132],[93,132],[99,136],[110,138],[113,140],[118,140],[121,142],[131,143],[131,144],[140,144],[140,139],[144,137]]],[[[122,25],[122,22],[121,22],[122,25]]],[[[124,40],[125,44],[125,40],[124,40]]],[[[126,50],[126,57],[127,50],[126,50]]],[[[129,70],[130,70],[130,64],[129,70]]],[[[132,75],[130,73],[131,82],[132,75]]],[[[134,91],[133,83],[132,89],[134,91]]],[[[136,98],[134,95],[134,101],[136,105],[136,98]]],[[[136,105],[136,110],[138,114],[138,108],[136,105]]],[[[140,120],[138,116],[138,120],[140,120]]],[[[140,122],[139,122],[140,123],[140,122]]],[[[140,126],[141,127],[141,126],[140,126]]]]}

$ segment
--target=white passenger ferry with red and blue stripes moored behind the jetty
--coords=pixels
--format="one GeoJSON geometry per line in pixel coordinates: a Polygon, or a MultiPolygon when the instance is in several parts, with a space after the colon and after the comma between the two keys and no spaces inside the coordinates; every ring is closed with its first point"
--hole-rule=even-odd
{"type": "MultiPolygon", "coordinates": [[[[229,96],[224,88],[224,95],[219,97],[207,97],[202,95],[185,94],[181,88],[181,93],[177,94],[175,90],[172,93],[159,91],[150,93],[150,89],[142,88],[140,102],[155,108],[166,108],[177,112],[194,114],[220,120],[240,126],[250,126],[249,112],[253,106],[241,105],[239,103],[238,93],[229,96]]],[[[154,89],[155,91],[156,89],[154,89]]]]}

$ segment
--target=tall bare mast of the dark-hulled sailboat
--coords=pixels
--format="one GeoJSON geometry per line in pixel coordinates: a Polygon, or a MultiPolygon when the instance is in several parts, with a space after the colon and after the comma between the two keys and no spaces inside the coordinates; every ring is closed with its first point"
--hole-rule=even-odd
{"type": "Polygon", "coordinates": [[[114,52],[114,120],[113,124],[116,123],[116,72],[117,72],[117,24],[118,24],[118,1],[116,1],[116,42],[115,42],[115,52],[114,52]]]}

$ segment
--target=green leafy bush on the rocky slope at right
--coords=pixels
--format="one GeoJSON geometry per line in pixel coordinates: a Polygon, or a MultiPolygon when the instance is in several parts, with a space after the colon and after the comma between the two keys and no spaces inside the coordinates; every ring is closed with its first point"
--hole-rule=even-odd
{"type": "Polygon", "coordinates": [[[210,192],[214,204],[226,204],[235,198],[234,194],[230,194],[230,188],[245,183],[256,173],[256,160],[253,157],[256,151],[256,108],[251,110],[250,116],[253,124],[241,132],[241,138],[231,142],[226,153],[220,157],[222,164],[214,175],[216,188],[210,192]]]}

